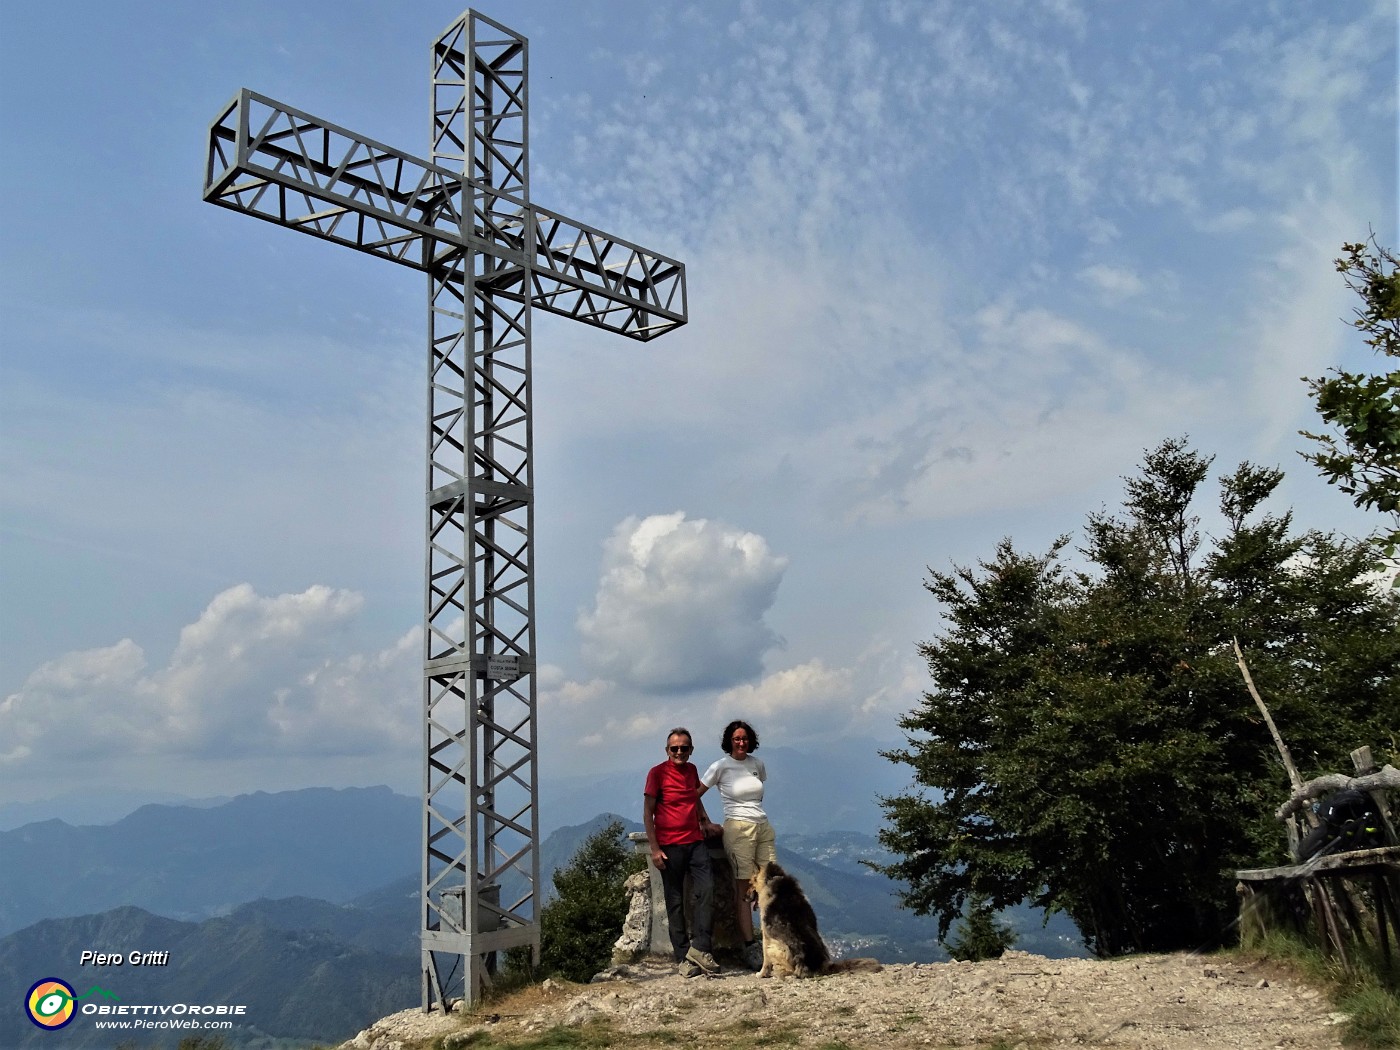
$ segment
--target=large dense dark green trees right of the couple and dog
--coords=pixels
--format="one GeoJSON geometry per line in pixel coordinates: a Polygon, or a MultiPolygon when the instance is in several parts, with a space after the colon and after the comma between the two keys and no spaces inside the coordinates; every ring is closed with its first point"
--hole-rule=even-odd
{"type": "Polygon", "coordinates": [[[1061,910],[1099,955],[1228,939],[1231,872],[1287,861],[1288,794],[1231,637],[1303,776],[1394,748],[1400,602],[1359,582],[1368,547],[1295,535],[1263,511],[1282,473],[1250,463],[1219,479],[1222,535],[1203,542],[1210,469],[1184,438],[1149,451],[1075,566],[1068,538],[1002,540],[930,573],[934,687],[886,753],[917,788],[882,799],[881,841],[941,938],[986,899],[1061,910]]]}

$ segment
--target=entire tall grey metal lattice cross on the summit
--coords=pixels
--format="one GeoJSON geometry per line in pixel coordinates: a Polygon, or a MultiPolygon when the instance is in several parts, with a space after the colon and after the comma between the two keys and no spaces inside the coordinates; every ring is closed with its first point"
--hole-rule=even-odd
{"type": "Polygon", "coordinates": [[[524,36],[466,11],[433,43],[431,158],[239,91],[204,200],[428,276],[423,1008],[539,958],[531,312],[650,340],[685,266],[533,204],[524,36]],[[451,965],[451,969],[448,969],[451,965]]]}

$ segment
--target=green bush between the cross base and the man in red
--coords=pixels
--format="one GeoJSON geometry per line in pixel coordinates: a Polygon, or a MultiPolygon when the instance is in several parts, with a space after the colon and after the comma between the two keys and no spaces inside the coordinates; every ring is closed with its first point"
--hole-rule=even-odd
{"type": "Polygon", "coordinates": [[[623,883],[641,869],[624,841],[620,820],[594,832],[568,864],[554,872],[559,896],[539,917],[540,970],[587,981],[612,962],[612,946],[627,917],[623,883]]]}

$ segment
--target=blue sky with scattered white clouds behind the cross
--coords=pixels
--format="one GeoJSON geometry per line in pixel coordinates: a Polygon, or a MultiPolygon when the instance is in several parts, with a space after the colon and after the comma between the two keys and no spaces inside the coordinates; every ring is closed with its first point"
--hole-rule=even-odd
{"type": "MultiPolygon", "coordinates": [[[[550,773],[739,714],[893,739],[925,567],[1043,549],[1166,437],[1371,524],[1296,431],[1368,364],[1331,259],[1397,244],[1389,0],[482,10],[533,199],[690,291],[645,346],[535,322],[550,773]]],[[[245,85],[426,154],[459,13],[0,11],[0,799],[416,790],[426,279],[199,190],[245,85]]]]}

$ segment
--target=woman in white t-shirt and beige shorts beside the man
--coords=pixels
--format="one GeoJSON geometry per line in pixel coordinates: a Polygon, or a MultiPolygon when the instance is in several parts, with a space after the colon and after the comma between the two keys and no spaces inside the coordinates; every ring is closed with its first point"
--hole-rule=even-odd
{"type": "Polygon", "coordinates": [[[773,848],[773,825],[763,812],[763,784],[769,771],[763,759],[755,757],[759,734],[742,720],[724,727],[720,748],[725,756],[700,776],[700,794],[720,788],[724,802],[724,851],[734,865],[734,903],[739,932],[743,935],[743,958],[753,969],[763,965],[759,945],[753,941],[753,910],[749,902],[749,876],[759,865],[777,860],[773,848]]]}

